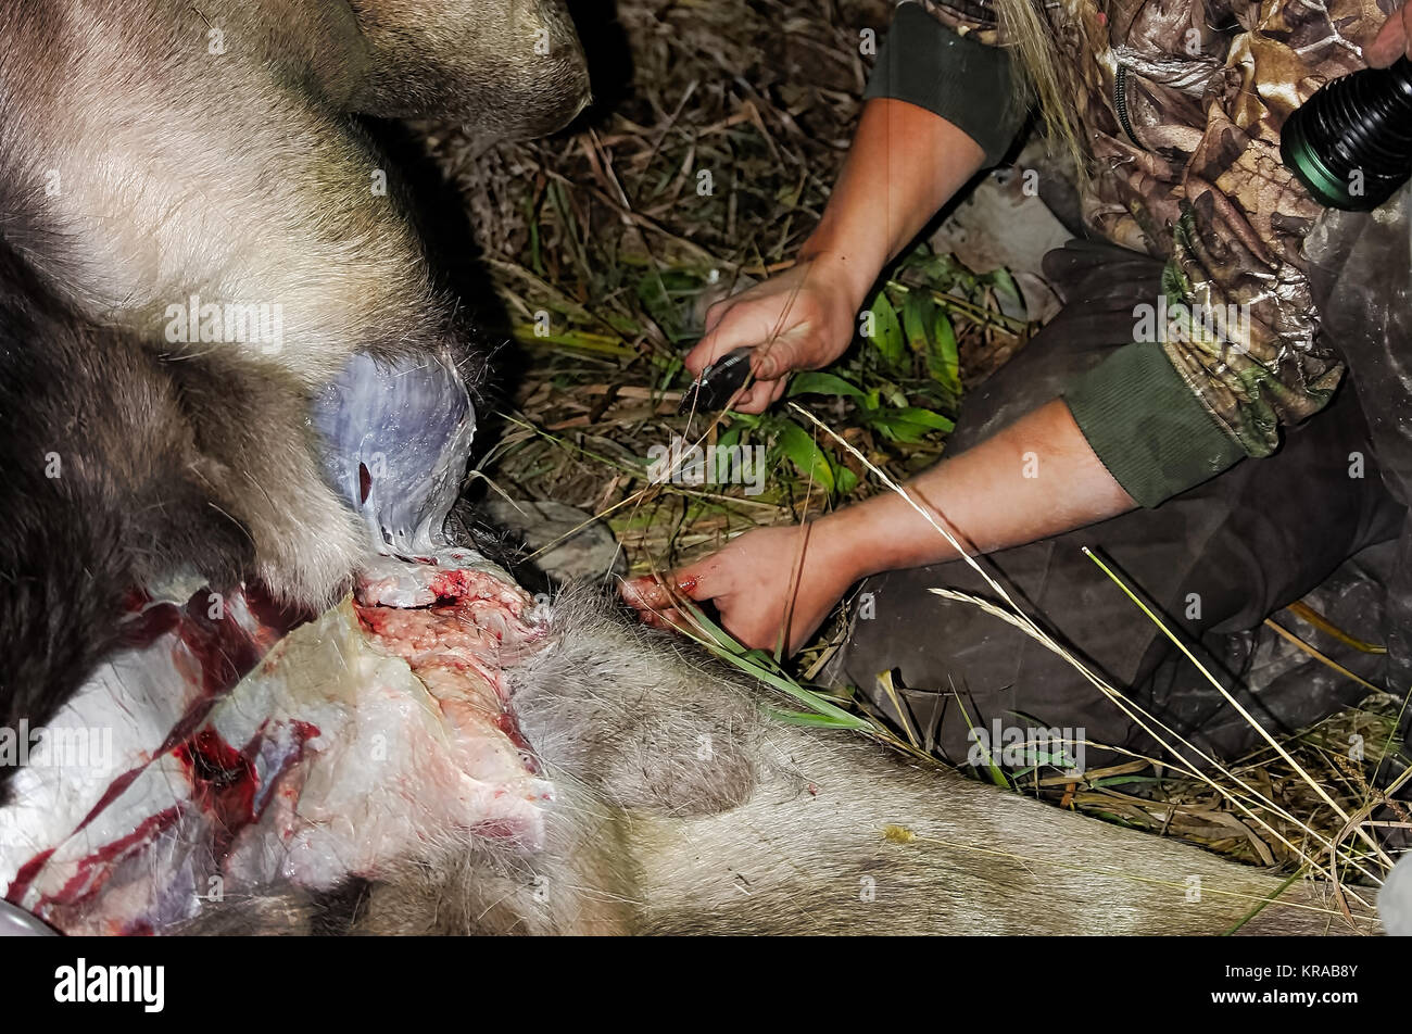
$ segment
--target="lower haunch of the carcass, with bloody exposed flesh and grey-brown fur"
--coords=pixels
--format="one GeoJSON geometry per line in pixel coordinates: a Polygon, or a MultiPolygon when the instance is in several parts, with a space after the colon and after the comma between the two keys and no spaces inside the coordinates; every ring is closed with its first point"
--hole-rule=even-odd
{"type": "Polygon", "coordinates": [[[216,658],[278,634],[258,603],[119,658],[52,730],[151,716],[184,671],[188,696],[103,778],[21,773],[7,897],[73,932],[1214,934],[1267,900],[1245,932],[1348,929],[1316,884],[1276,896],[1261,870],[774,722],[767,689],[590,592],[534,606],[469,551],[387,565],[229,692],[216,658]],[[394,574],[433,602],[384,606],[394,574]]]}

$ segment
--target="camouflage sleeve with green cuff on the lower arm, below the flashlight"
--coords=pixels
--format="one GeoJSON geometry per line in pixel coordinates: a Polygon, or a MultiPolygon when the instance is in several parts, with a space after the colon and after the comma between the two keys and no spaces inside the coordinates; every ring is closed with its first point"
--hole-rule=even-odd
{"type": "Polygon", "coordinates": [[[1139,506],[1271,455],[1281,428],[1322,410],[1343,374],[1315,343],[1312,307],[1291,304],[1308,294],[1303,277],[1289,270],[1279,283],[1279,267],[1203,233],[1213,220],[1193,215],[1185,206],[1173,227],[1161,292],[1134,311],[1134,343],[1065,391],[1089,445],[1139,506]]]}

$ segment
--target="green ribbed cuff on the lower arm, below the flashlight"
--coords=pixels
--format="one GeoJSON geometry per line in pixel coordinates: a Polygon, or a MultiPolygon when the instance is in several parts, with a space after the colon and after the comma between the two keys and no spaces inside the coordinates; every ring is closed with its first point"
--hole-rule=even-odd
{"type": "Polygon", "coordinates": [[[1118,349],[1079,377],[1065,401],[1139,506],[1156,506],[1245,458],[1156,342],[1118,349]]]}

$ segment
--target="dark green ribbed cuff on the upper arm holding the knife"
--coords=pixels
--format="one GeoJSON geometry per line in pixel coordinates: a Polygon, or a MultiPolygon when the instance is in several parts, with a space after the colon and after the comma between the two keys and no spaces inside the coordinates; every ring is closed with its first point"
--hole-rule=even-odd
{"type": "Polygon", "coordinates": [[[921,4],[904,3],[863,97],[892,97],[939,114],[980,145],[990,168],[1025,121],[1015,88],[1010,54],[957,35],[921,4]]]}

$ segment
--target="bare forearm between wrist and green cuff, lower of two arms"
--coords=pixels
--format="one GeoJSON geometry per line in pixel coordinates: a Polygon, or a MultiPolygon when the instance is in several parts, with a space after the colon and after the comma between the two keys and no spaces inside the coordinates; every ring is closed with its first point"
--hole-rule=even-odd
{"type": "MultiPolygon", "coordinates": [[[[1072,531],[1135,503],[1089,448],[1062,401],[1048,403],[907,485],[912,499],[969,552],[991,552],[1072,531]]],[[[856,581],[957,558],[895,493],[816,521],[815,548],[856,581]]]]}

